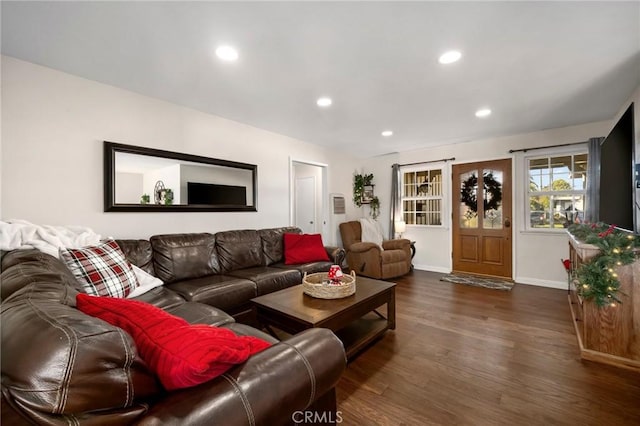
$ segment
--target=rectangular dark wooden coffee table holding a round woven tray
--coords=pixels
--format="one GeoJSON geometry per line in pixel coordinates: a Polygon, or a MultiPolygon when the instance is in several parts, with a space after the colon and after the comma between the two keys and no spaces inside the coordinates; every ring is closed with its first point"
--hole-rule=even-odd
{"type": "Polygon", "coordinates": [[[395,287],[394,283],[358,277],[355,294],[342,299],[316,299],[297,285],[251,302],[258,322],[272,335],[276,336],[271,327],[290,334],[328,328],[342,340],[350,359],[385,331],[396,328],[395,287]],[[386,305],[386,316],[378,312],[382,305],[386,305]]]}

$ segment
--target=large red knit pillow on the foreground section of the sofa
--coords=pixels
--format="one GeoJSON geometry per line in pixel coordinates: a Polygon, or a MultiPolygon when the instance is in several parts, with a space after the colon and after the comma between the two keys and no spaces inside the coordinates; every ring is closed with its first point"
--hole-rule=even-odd
{"type": "Polygon", "coordinates": [[[78,294],[87,315],[120,327],[133,337],[138,352],[167,390],[204,383],[270,346],[253,336],[206,324],[189,324],[148,303],[78,294]]]}

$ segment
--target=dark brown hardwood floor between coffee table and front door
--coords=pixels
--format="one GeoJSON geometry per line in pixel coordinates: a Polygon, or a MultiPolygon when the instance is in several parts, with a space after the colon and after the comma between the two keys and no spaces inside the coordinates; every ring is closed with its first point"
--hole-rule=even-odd
{"type": "Polygon", "coordinates": [[[563,290],[395,280],[397,328],[347,367],[343,425],[640,425],[640,374],[581,361],[563,290]]]}

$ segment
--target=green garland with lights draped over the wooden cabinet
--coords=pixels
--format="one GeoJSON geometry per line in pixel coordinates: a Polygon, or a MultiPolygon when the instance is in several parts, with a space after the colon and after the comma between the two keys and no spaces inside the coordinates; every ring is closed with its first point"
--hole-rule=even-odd
{"type": "Polygon", "coordinates": [[[576,270],[577,291],[585,300],[593,300],[598,306],[615,306],[620,280],[616,266],[628,265],[639,256],[640,237],[604,223],[573,224],[568,228],[578,240],[593,244],[600,253],[576,270]]]}

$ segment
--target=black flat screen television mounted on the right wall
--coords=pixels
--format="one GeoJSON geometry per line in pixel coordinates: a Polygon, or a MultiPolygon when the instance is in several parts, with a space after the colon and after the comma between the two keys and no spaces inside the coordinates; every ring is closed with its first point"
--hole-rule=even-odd
{"type": "Polygon", "coordinates": [[[633,104],[600,146],[599,220],[636,231],[633,104]]]}

